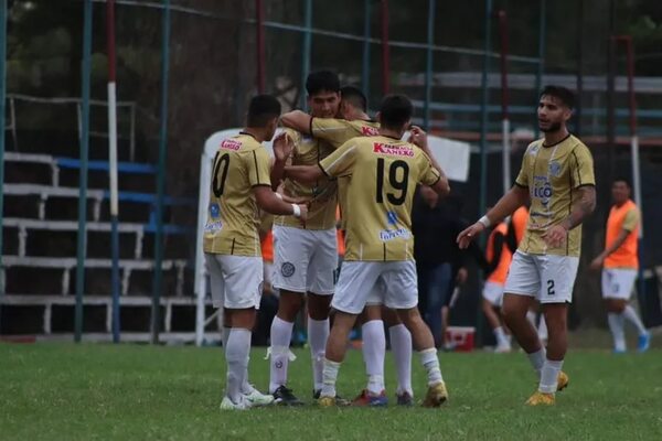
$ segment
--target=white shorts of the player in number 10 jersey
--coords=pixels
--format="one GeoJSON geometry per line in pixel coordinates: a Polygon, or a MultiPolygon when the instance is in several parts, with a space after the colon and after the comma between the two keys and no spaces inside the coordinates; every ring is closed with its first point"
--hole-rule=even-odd
{"type": "Polygon", "coordinates": [[[263,290],[261,257],[204,254],[214,308],[259,309],[263,290]]]}

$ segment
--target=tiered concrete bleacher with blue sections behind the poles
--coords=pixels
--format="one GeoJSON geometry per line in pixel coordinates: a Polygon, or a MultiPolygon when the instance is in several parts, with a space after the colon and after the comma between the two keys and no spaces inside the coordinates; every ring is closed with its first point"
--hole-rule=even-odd
{"type": "MultiPolygon", "coordinates": [[[[0,334],[60,338],[73,332],[75,305],[77,187],[81,162],[41,153],[7,152],[3,183],[3,256],[0,277],[0,334]],[[71,320],[70,320],[71,319],[71,320]]],[[[156,225],[156,173],[152,164],[120,162],[118,227],[124,340],[149,337],[156,225]]],[[[108,163],[89,161],[84,329],[88,340],[110,332],[110,219],[108,163]]],[[[175,207],[195,209],[195,201],[164,198],[166,219],[175,207]]],[[[166,223],[162,330],[166,340],[192,338],[191,227],[166,223]]]]}

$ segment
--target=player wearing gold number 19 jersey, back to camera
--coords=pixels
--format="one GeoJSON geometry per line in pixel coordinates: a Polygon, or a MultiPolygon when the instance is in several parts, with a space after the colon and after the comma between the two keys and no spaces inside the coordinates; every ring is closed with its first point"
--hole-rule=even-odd
{"type": "Polygon", "coordinates": [[[327,343],[323,388],[318,400],[321,406],[338,404],[335,380],[346,340],[376,283],[382,283],[382,302],[397,310],[420,353],[428,376],[424,406],[440,406],[448,397],[433,335],[416,308],[409,213],[417,183],[430,185],[444,195],[449,186],[429,155],[423,130],[413,129],[413,140],[421,148],[401,141],[412,114],[407,97],[387,96],[381,105],[378,137],[353,138],[319,166],[287,169],[290,178],[303,182],[321,175],[352,176],[348,187],[345,260],[332,301],[337,312],[327,343]]]}

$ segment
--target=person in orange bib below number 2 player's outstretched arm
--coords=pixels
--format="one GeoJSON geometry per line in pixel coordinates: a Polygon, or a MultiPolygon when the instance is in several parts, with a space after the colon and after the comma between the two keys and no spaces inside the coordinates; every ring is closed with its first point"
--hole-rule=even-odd
{"type": "Polygon", "coordinates": [[[501,323],[501,305],[503,304],[503,286],[513,255],[506,246],[508,224],[498,224],[488,238],[485,259],[488,261],[488,280],[483,287],[482,310],[496,338],[495,353],[511,351],[511,336],[501,323]],[[499,310],[495,312],[494,309],[499,310]]]}

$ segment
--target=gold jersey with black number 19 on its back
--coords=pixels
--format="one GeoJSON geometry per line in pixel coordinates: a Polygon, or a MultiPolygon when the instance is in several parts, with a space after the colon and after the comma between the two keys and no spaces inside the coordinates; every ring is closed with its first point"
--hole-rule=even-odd
{"type": "Polygon", "coordinates": [[[439,172],[418,147],[384,136],[353,138],[320,162],[329,176],[352,175],[348,186],[344,260],[413,260],[412,201],[416,184],[439,172]]]}

